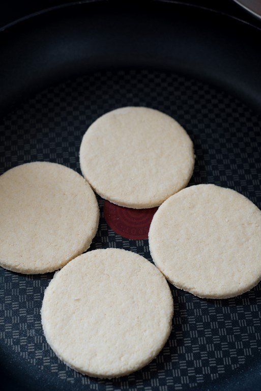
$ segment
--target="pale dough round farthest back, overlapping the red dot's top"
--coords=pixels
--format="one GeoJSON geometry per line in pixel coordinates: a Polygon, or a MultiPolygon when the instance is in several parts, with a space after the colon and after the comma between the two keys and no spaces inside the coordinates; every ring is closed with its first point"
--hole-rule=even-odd
{"type": "Polygon", "coordinates": [[[166,114],[122,107],[104,114],[86,131],[80,166],[104,199],[129,208],[152,208],[189,182],[193,144],[166,114]]]}

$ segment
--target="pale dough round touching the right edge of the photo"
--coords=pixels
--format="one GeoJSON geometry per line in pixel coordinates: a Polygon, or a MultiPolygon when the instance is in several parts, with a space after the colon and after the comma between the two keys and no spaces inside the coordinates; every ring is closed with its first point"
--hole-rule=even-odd
{"type": "Polygon", "coordinates": [[[261,211],[215,185],[188,187],[165,201],[149,232],[156,266],[199,297],[240,295],[261,280],[261,211]]]}

